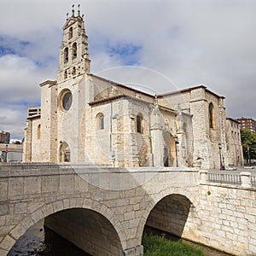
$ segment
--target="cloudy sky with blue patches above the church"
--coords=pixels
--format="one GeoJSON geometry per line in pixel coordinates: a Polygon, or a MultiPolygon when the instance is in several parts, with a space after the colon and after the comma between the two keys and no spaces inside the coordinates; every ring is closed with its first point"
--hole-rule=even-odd
{"type": "Polygon", "coordinates": [[[22,139],[39,84],[56,79],[80,4],[91,73],[154,93],[205,85],[226,115],[256,119],[254,0],[1,0],[0,130],[22,139]]]}

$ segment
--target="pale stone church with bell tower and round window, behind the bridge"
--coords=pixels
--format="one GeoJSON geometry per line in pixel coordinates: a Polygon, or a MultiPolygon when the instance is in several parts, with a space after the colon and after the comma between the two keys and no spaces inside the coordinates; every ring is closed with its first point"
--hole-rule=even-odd
{"type": "Polygon", "coordinates": [[[90,73],[87,40],[73,10],[63,26],[57,79],[40,84],[41,106],[28,108],[23,161],[241,165],[239,130],[230,139],[223,96],[203,85],[153,96],[103,79],[90,73]]]}

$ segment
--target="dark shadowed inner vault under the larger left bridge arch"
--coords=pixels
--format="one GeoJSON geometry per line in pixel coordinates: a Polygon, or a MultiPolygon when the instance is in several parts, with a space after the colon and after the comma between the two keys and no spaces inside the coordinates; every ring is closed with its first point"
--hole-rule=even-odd
{"type": "Polygon", "coordinates": [[[72,238],[79,248],[92,255],[119,255],[123,251],[113,225],[92,210],[75,208],[56,212],[44,219],[44,225],[57,230],[68,241],[72,238]]]}

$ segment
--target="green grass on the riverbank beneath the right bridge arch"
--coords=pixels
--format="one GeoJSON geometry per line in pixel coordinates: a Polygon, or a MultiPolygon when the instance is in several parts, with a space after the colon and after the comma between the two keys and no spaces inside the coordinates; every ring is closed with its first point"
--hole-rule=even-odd
{"type": "Polygon", "coordinates": [[[144,256],[205,256],[200,248],[164,236],[143,235],[144,256]]]}

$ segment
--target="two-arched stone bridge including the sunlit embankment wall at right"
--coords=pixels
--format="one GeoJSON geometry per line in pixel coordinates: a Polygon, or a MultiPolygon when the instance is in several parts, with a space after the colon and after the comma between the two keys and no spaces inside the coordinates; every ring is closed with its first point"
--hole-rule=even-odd
{"type": "Polygon", "coordinates": [[[41,219],[92,255],[143,255],[145,225],[256,255],[255,192],[195,168],[2,164],[0,255],[41,219]]]}

